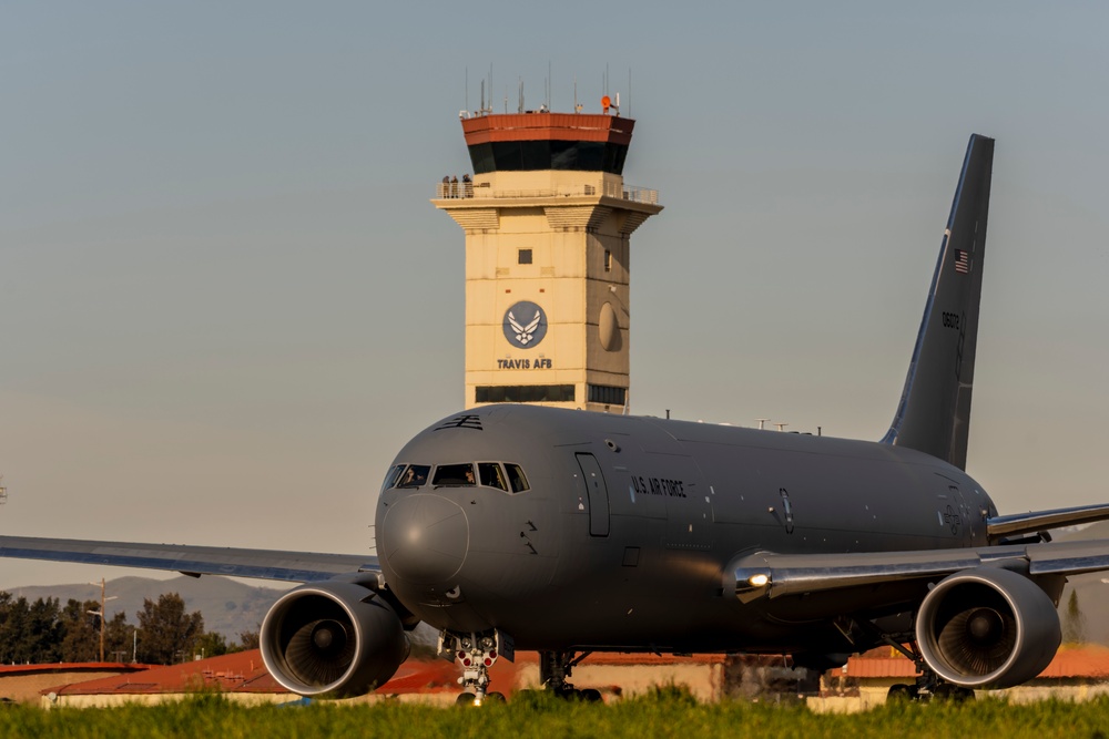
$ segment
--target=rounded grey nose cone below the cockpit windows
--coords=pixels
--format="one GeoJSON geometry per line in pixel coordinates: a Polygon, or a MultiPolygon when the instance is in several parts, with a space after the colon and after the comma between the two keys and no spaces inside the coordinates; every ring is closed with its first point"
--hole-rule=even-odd
{"type": "Polygon", "coordinates": [[[457,503],[417,493],[389,506],[378,535],[381,554],[398,576],[413,583],[442,584],[461,568],[470,528],[457,503]]]}

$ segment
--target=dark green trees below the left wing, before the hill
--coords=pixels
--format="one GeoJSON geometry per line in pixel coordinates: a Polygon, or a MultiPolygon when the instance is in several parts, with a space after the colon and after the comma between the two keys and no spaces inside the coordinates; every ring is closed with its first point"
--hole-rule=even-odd
{"type": "MultiPolygon", "coordinates": [[[[99,601],[70,598],[63,606],[58,598],[29,602],[0,591],[0,664],[99,661],[99,601]]],[[[143,599],[135,618],[132,624],[118,613],[104,622],[108,661],[173,665],[194,655],[216,657],[258,646],[257,632],[243,632],[230,644],[218,632],[205,632],[204,616],[200,610],[186,613],[176,593],[143,599]]]]}

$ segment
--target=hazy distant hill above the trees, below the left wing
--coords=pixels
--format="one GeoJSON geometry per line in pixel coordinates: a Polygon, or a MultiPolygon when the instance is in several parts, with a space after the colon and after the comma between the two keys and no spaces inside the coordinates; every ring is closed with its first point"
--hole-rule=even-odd
{"type": "MultiPolygon", "coordinates": [[[[289,586],[292,587],[292,586],[289,586]]],[[[108,596],[116,596],[106,605],[108,617],[119,612],[128,616],[128,622],[135,624],[135,614],[142,609],[143,598],[156,601],[163,593],[176,593],[185,602],[185,608],[192,613],[200,610],[204,615],[204,628],[218,632],[228,643],[237,642],[243,632],[255,632],[262,624],[269,606],[288,589],[275,587],[258,587],[246,585],[227,577],[174,577],[172,579],[151,579],[149,577],[120,577],[108,581],[108,596]]],[[[58,598],[62,605],[70,598],[78,601],[100,601],[100,585],[40,585],[31,587],[13,587],[8,589],[13,596],[23,596],[28,601],[38,598],[58,598]]]]}

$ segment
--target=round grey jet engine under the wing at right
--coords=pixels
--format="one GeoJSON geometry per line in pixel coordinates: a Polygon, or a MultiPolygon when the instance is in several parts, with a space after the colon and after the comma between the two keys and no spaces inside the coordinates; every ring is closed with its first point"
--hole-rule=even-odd
{"type": "Polygon", "coordinates": [[[940,581],[916,617],[920,656],[965,688],[1009,688],[1039,675],[1062,633],[1051,598],[1027,577],[976,567],[940,581]]]}

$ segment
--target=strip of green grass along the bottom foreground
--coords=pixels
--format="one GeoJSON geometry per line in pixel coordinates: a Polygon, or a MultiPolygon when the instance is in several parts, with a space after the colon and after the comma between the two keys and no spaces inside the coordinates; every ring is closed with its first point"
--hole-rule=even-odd
{"type": "Polygon", "coordinates": [[[0,737],[881,737],[1109,738],[1109,699],[1009,706],[894,705],[852,716],[812,714],[798,706],[696,704],[676,691],[611,706],[566,702],[545,695],[480,708],[400,704],[243,708],[217,696],[159,707],[0,709],[0,737]]]}

